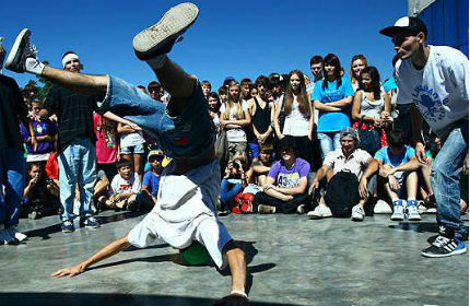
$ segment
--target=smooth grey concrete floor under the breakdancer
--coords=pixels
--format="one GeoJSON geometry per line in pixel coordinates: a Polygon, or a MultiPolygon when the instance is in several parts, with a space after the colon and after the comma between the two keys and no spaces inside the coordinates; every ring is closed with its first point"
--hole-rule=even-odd
{"type": "MultiPolygon", "coordinates": [[[[62,234],[57,216],[21,220],[30,239],[0,246],[1,305],[211,305],[231,278],[174,263],[167,246],[129,249],[75,278],[49,274],[124,236],[143,215],[105,212],[98,229],[62,234]]],[[[468,221],[468,216],[463,216],[468,221]]],[[[305,215],[222,217],[248,255],[251,305],[468,305],[468,254],[426,259],[435,215],[398,223],[386,215],[307,220],[305,215]]]]}

